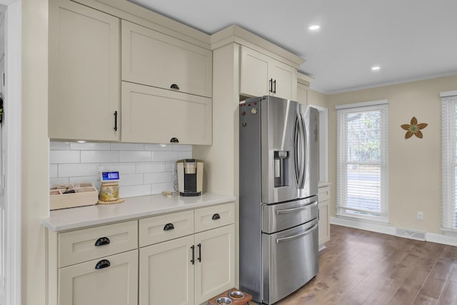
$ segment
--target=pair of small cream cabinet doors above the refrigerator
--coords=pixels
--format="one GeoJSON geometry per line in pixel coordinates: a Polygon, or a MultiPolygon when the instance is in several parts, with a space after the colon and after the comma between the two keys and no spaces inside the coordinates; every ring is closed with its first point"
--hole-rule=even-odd
{"type": "Polygon", "coordinates": [[[297,70],[247,46],[241,46],[240,94],[297,98],[297,70]]]}

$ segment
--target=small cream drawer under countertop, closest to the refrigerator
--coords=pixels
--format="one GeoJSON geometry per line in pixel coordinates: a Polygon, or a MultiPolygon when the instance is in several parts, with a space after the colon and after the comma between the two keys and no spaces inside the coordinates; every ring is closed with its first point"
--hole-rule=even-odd
{"type": "Polygon", "coordinates": [[[195,231],[206,231],[209,229],[226,226],[235,222],[234,204],[221,204],[209,206],[208,208],[195,210],[195,231]]]}

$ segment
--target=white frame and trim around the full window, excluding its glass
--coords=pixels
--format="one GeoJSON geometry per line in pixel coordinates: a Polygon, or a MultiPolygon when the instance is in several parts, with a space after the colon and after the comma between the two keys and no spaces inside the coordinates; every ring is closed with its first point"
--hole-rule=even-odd
{"type": "MultiPolygon", "coordinates": [[[[388,100],[378,100],[378,101],[366,101],[355,104],[343,104],[338,105],[336,108],[337,114],[337,156],[336,156],[336,167],[337,167],[337,189],[336,189],[336,216],[341,218],[351,218],[356,221],[370,221],[375,223],[386,224],[388,223],[388,100]],[[346,173],[344,169],[345,165],[348,164],[346,159],[346,126],[343,126],[345,123],[341,121],[343,116],[351,112],[359,111],[373,111],[380,110],[383,115],[381,126],[381,161],[372,162],[370,164],[380,164],[381,168],[381,212],[376,213],[378,216],[368,216],[368,215],[353,215],[347,213],[345,205],[342,203],[343,200],[343,184],[346,179],[343,179],[343,176],[346,173]],[[341,133],[344,134],[341,134],[341,133]],[[344,147],[342,147],[344,145],[344,147]],[[341,151],[343,149],[343,151],[341,151]]],[[[359,163],[357,163],[359,164],[359,163]]]]}

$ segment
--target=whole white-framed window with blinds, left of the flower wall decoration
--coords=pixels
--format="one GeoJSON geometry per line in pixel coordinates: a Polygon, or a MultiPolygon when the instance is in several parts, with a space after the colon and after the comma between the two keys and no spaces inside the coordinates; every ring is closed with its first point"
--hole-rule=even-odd
{"type": "Polygon", "coordinates": [[[338,216],[388,221],[388,104],[336,107],[338,216]]]}

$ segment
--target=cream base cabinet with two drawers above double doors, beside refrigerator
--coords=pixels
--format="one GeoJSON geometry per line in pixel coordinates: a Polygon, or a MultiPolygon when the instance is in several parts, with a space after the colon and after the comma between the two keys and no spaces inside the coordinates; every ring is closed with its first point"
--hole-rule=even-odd
{"type": "Polygon", "coordinates": [[[233,204],[173,215],[140,220],[140,245],[178,237],[140,249],[140,305],[201,304],[235,285],[233,204]]]}

